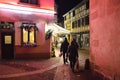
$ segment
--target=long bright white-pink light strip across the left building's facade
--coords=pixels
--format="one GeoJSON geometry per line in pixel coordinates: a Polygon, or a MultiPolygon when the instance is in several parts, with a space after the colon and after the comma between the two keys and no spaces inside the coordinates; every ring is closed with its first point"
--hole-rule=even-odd
{"type": "Polygon", "coordinates": [[[44,13],[44,14],[51,14],[51,15],[55,14],[55,12],[51,10],[28,8],[28,7],[15,6],[15,5],[9,5],[9,4],[0,4],[0,8],[11,9],[11,10],[16,10],[16,11],[44,13]]]}

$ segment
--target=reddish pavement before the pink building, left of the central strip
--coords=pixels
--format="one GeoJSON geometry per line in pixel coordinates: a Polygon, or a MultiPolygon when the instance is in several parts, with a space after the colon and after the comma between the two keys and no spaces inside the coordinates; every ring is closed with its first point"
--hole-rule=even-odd
{"type": "Polygon", "coordinates": [[[0,80],[53,80],[60,58],[0,62],[0,80]]]}

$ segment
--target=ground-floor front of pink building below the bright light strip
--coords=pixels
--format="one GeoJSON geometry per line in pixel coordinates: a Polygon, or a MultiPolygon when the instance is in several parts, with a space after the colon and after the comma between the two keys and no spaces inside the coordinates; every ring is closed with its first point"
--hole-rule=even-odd
{"type": "Polygon", "coordinates": [[[45,27],[53,22],[54,13],[7,8],[0,13],[0,59],[51,57],[51,39],[45,39],[45,27]]]}

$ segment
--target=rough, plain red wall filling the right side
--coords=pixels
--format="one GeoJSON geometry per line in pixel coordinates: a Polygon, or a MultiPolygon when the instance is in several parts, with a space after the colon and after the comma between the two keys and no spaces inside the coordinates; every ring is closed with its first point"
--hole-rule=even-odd
{"type": "Polygon", "coordinates": [[[120,0],[90,0],[90,61],[110,80],[120,80],[120,0]]]}

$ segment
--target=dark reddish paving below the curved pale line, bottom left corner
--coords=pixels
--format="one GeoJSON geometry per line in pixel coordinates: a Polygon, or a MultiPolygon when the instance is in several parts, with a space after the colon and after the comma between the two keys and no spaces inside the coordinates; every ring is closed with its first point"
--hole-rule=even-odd
{"type": "Polygon", "coordinates": [[[0,78],[0,80],[53,80],[56,69],[57,68],[55,67],[55,68],[47,70],[43,73],[11,77],[11,78],[0,78]]]}

